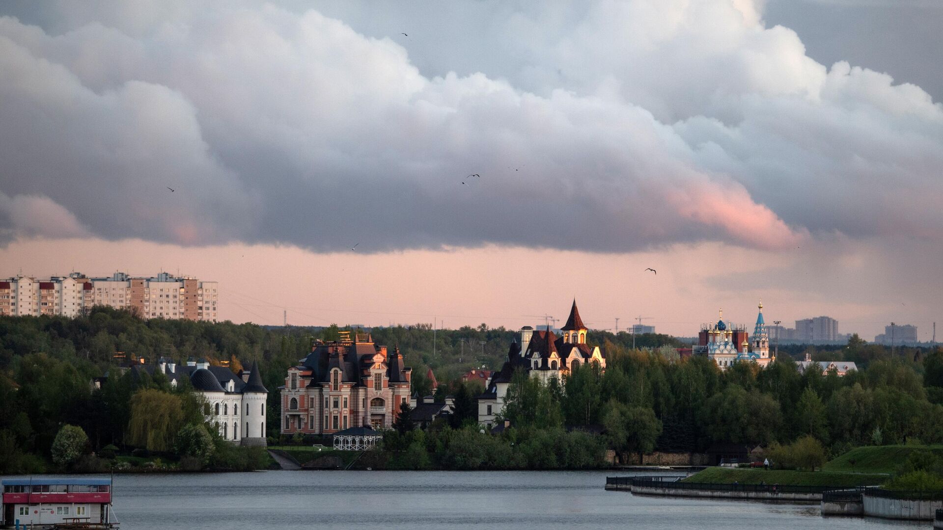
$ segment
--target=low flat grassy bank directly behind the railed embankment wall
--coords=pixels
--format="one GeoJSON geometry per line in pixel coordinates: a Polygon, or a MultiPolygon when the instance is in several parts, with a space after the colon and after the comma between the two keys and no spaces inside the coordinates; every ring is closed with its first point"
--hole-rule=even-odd
{"type": "Polygon", "coordinates": [[[797,472],[789,470],[757,470],[707,468],[684,482],[709,484],[780,484],[783,486],[877,486],[887,480],[882,474],[843,472],[797,472]]]}

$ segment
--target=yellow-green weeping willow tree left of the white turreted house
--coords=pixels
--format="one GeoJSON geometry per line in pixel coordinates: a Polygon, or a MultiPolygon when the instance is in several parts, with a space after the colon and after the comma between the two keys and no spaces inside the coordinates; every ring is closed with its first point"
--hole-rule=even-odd
{"type": "Polygon", "coordinates": [[[131,396],[128,442],[148,451],[170,451],[182,426],[180,396],[157,389],[141,389],[131,396]]]}

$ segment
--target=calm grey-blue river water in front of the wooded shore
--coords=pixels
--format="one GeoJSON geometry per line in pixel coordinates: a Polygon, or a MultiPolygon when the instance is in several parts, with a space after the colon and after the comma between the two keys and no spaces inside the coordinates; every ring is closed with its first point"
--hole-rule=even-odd
{"type": "Polygon", "coordinates": [[[118,474],[122,530],[929,528],[822,518],[819,505],[634,496],[613,472],[246,472],[118,474]]]}

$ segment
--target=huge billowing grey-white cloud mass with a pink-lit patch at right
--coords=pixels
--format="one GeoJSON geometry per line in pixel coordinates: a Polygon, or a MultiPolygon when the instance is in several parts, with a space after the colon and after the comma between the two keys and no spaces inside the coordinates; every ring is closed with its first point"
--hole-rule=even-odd
{"type": "Polygon", "coordinates": [[[943,108],[750,0],[440,6],[0,19],[0,191],[188,244],[938,242],[943,108]]]}

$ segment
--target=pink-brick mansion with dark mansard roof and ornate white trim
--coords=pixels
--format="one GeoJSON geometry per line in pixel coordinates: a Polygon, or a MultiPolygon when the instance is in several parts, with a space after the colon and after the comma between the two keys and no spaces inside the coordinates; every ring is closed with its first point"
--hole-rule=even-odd
{"type": "Polygon", "coordinates": [[[321,342],[293,366],[281,387],[285,434],[333,434],[352,427],[389,429],[409,403],[412,369],[399,349],[388,353],[370,335],[321,342]]]}

